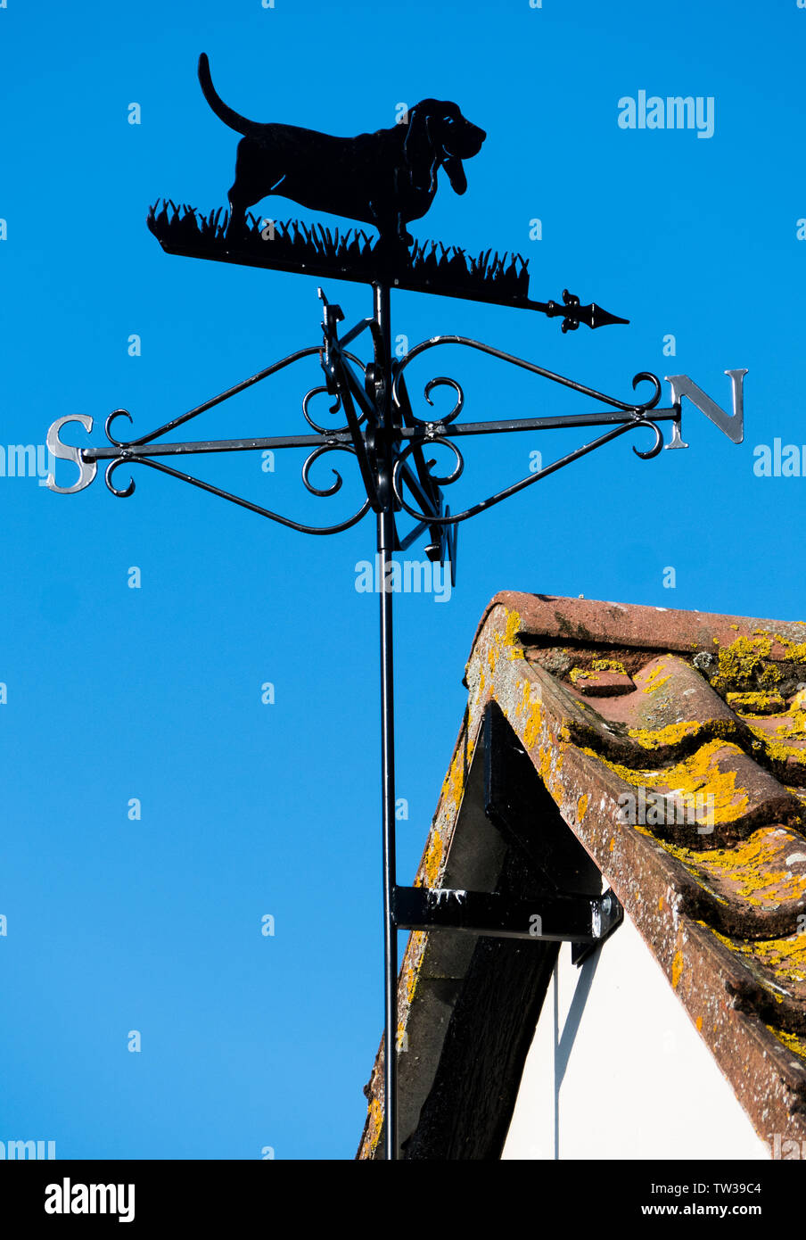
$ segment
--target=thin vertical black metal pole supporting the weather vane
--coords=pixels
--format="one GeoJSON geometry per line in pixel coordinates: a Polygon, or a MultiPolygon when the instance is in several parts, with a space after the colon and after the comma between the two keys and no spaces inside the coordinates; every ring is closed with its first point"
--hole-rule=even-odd
{"type": "Polygon", "coordinates": [[[381,574],[381,805],[383,831],[383,1122],[388,1161],[398,1156],[397,1143],[397,930],[392,901],[396,884],[394,852],[394,651],[392,634],[392,593],[387,589],[388,569],[394,551],[394,502],[392,494],[392,334],[388,285],[373,284],[374,317],[383,337],[383,430],[378,444],[378,557],[381,574]]]}

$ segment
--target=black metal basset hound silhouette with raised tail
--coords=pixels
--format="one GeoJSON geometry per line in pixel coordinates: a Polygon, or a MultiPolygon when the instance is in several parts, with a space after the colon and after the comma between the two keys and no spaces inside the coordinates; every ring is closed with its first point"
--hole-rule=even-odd
{"type": "Polygon", "coordinates": [[[467,180],[463,160],[477,155],[487,136],[455,103],[423,99],[408,123],[357,138],[335,138],[296,125],[259,124],[233,112],[217,94],[210,62],[198,58],[198,81],[216,115],[244,136],[238,143],[229,190],[227,236],[243,234],[247,207],[269,193],[304,207],[373,224],[381,239],[409,244],[409,219],[420,219],[445,169],[456,193],[467,180]]]}

